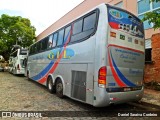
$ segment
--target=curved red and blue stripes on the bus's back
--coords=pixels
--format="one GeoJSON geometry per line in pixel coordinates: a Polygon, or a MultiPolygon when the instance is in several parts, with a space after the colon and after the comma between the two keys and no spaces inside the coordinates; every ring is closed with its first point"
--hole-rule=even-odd
{"type": "MultiPolygon", "coordinates": [[[[109,45],[111,46],[111,45],[109,45]]],[[[113,45],[114,46],[114,45],[113,45]]],[[[117,46],[116,46],[117,47],[117,46]]],[[[136,50],[137,51],[137,50],[136,50]]],[[[140,52],[140,51],[139,51],[140,52]]],[[[132,83],[131,81],[129,81],[123,74],[122,72],[118,69],[111,51],[108,49],[108,57],[109,57],[109,65],[113,74],[113,77],[115,79],[115,81],[117,82],[117,84],[120,87],[135,87],[136,85],[134,83],[132,83]]]]}

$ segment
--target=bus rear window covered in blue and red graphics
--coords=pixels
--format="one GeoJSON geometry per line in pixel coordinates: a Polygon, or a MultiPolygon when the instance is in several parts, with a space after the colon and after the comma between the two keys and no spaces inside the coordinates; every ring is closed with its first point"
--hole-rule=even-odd
{"type": "Polygon", "coordinates": [[[107,5],[108,22],[112,29],[144,38],[143,22],[135,15],[120,8],[107,5]]]}

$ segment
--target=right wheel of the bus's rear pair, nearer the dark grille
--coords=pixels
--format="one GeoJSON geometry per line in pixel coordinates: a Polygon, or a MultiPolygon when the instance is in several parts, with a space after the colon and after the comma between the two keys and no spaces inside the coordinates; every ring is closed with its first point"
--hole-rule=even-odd
{"type": "Polygon", "coordinates": [[[61,80],[56,82],[56,95],[60,98],[63,98],[63,84],[61,80]]]}

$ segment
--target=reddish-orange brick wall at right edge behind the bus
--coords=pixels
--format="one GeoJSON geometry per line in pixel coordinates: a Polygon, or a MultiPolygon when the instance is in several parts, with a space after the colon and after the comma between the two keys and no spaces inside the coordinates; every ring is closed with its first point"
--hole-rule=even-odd
{"type": "Polygon", "coordinates": [[[152,64],[145,65],[145,83],[155,81],[160,83],[160,33],[151,38],[152,64]]]}

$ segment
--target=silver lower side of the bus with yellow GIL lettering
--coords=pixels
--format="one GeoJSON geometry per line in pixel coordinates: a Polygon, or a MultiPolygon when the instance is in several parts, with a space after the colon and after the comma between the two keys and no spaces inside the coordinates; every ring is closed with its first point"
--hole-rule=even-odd
{"type": "MultiPolygon", "coordinates": [[[[66,55],[63,55],[55,71],[51,73],[54,78],[53,81],[55,81],[55,79],[58,78],[58,75],[61,76],[62,81],[64,80],[63,81],[64,95],[74,99],[79,99],[80,101],[84,101],[89,104],[92,104],[93,102],[92,96],[93,96],[93,76],[94,76],[93,73],[94,48],[95,48],[95,36],[91,36],[88,40],[85,40],[83,42],[68,45],[65,51],[66,55]],[[79,75],[76,76],[77,74],[79,75]],[[73,77],[79,77],[81,75],[85,75],[84,79],[82,78],[82,81],[74,81],[72,79],[73,77]],[[76,83],[81,83],[81,84],[77,85],[76,83]],[[77,93],[78,91],[80,92],[83,91],[83,94],[77,93]]],[[[46,69],[48,63],[51,63],[52,61],[52,65],[54,66],[57,60],[54,57],[51,58],[52,53],[59,54],[59,51],[61,51],[61,49],[62,48],[56,48],[50,51],[41,52],[36,55],[29,56],[28,70],[30,78],[32,80],[39,82],[40,81],[39,79],[43,77],[42,74],[47,74],[47,72],[49,71],[49,69],[46,69]]],[[[41,84],[46,86],[46,80],[41,84]]]]}

